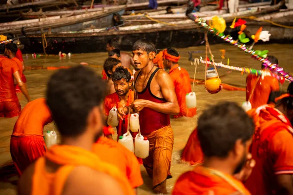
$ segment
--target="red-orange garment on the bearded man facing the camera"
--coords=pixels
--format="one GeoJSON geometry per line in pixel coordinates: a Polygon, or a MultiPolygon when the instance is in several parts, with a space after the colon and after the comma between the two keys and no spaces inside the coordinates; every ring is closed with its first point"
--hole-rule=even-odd
{"type": "MultiPolygon", "coordinates": [[[[126,106],[130,106],[130,104],[133,102],[133,100],[134,100],[134,91],[132,91],[130,89],[126,106]]],[[[109,112],[113,107],[116,107],[116,108],[121,107],[120,99],[119,99],[119,96],[116,92],[106,96],[106,98],[104,100],[104,113],[106,116],[109,116],[109,112]]],[[[117,126],[118,137],[125,134],[127,132],[127,128],[128,128],[127,117],[125,117],[123,120],[119,120],[119,124],[117,126]]]]}

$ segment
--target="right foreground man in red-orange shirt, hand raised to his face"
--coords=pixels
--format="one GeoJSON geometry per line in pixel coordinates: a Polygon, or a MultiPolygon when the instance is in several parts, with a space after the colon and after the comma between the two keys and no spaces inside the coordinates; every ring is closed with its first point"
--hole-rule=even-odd
{"type": "Polygon", "coordinates": [[[235,102],[205,110],[198,119],[204,162],[178,178],[172,195],[250,195],[233,175],[245,180],[251,173],[254,161],[248,151],[253,133],[252,119],[235,102]]]}

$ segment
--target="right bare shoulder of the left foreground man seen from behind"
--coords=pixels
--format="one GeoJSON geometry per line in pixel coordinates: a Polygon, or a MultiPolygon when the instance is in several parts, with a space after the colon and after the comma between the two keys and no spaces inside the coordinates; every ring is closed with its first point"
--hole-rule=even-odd
{"type": "Polygon", "coordinates": [[[69,174],[62,195],[123,195],[119,183],[111,176],[86,166],[69,174]]]}

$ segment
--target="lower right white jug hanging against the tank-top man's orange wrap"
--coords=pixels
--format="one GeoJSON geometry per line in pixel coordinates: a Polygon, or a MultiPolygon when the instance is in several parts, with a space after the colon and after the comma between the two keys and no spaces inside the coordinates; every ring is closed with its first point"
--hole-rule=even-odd
{"type": "Polygon", "coordinates": [[[143,137],[141,134],[137,134],[134,143],[135,156],[146,158],[149,152],[149,141],[147,140],[147,137],[143,137]]]}

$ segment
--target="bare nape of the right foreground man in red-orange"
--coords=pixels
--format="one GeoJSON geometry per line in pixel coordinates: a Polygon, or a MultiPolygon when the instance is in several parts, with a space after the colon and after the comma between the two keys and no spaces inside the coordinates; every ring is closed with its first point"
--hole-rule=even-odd
{"type": "Polygon", "coordinates": [[[218,157],[205,158],[203,166],[229,175],[234,173],[233,166],[229,164],[227,159],[220,159],[218,157]]]}

